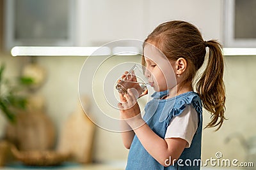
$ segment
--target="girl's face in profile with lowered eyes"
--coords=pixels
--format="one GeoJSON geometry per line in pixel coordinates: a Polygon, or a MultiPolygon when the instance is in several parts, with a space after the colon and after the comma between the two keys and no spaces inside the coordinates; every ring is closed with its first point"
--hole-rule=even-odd
{"type": "Polygon", "coordinates": [[[175,74],[169,60],[155,46],[144,46],[145,76],[156,92],[172,89],[176,85],[175,74]]]}

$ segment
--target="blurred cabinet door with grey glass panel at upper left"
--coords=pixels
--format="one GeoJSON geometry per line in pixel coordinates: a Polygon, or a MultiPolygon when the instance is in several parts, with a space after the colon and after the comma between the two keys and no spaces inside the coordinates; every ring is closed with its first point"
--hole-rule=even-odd
{"type": "Polygon", "coordinates": [[[5,0],[4,44],[70,46],[73,41],[74,1],[5,0]]]}

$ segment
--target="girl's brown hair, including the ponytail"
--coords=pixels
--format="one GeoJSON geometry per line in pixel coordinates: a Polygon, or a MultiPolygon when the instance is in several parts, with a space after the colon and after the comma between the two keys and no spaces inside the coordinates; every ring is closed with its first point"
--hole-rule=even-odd
{"type": "MultiPolygon", "coordinates": [[[[204,41],[195,25],[180,20],[160,24],[148,35],[143,46],[146,42],[159,48],[169,60],[177,60],[180,57],[186,59],[188,65],[187,71],[184,72],[183,85],[192,85],[196,72],[204,63],[205,48],[209,47],[207,66],[200,79],[196,81],[195,87],[204,108],[211,113],[211,122],[206,127],[218,126],[218,131],[226,119],[224,62],[220,43],[216,40],[204,41]]],[[[144,56],[142,64],[145,66],[144,56]]]]}

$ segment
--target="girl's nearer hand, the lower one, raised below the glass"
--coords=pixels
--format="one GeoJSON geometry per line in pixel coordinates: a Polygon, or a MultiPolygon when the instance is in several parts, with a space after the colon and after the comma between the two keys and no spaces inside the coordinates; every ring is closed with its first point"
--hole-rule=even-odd
{"type": "Polygon", "coordinates": [[[127,89],[127,94],[119,94],[121,103],[118,103],[118,108],[121,117],[129,124],[132,129],[145,124],[141,118],[140,106],[137,102],[138,92],[136,89],[127,89]]]}

